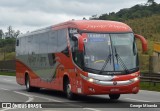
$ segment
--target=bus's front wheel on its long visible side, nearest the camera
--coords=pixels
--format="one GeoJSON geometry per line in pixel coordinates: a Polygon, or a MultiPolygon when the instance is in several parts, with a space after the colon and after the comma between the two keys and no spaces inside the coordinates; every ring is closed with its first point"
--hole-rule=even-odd
{"type": "Polygon", "coordinates": [[[65,93],[68,99],[70,100],[74,99],[74,94],[71,91],[71,84],[68,79],[65,81],[65,93]]]}

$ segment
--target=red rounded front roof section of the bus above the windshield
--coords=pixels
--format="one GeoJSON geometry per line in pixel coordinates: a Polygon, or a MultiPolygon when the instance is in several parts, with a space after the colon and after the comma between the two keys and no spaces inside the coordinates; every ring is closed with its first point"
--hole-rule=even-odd
{"type": "Polygon", "coordinates": [[[53,26],[53,29],[77,28],[89,32],[132,32],[132,29],[122,23],[109,20],[71,20],[53,26]]]}

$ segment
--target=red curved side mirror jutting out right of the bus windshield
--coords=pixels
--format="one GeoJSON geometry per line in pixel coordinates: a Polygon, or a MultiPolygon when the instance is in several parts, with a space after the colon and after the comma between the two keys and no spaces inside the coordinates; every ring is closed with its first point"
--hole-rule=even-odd
{"type": "Polygon", "coordinates": [[[148,50],[148,48],[147,48],[147,40],[143,36],[138,35],[138,34],[134,34],[134,36],[141,41],[143,53],[146,52],[148,50]]]}

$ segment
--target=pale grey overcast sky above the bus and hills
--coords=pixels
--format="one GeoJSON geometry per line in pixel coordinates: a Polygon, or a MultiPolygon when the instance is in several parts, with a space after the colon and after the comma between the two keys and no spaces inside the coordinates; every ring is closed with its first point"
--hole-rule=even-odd
{"type": "MultiPolygon", "coordinates": [[[[117,12],[147,0],[0,0],[0,29],[23,33],[60,22],[117,12]]],[[[160,3],[160,0],[155,0],[160,3]]]]}

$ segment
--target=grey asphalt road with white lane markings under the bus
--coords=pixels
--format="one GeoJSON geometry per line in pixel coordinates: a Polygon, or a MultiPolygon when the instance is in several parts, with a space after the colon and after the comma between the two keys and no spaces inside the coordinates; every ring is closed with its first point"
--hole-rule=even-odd
{"type": "MultiPolygon", "coordinates": [[[[116,101],[111,101],[108,95],[77,96],[74,101],[70,101],[62,92],[58,91],[41,89],[38,92],[27,92],[25,86],[16,83],[15,77],[0,76],[1,105],[4,102],[20,102],[20,104],[27,105],[35,102],[35,104],[41,104],[42,107],[50,107],[23,109],[23,111],[160,111],[159,92],[141,90],[138,94],[121,95],[120,99],[116,101]],[[137,108],[143,104],[155,107],[157,105],[159,108],[137,108]]],[[[20,108],[0,109],[0,111],[10,110],[22,111],[20,108]]]]}

